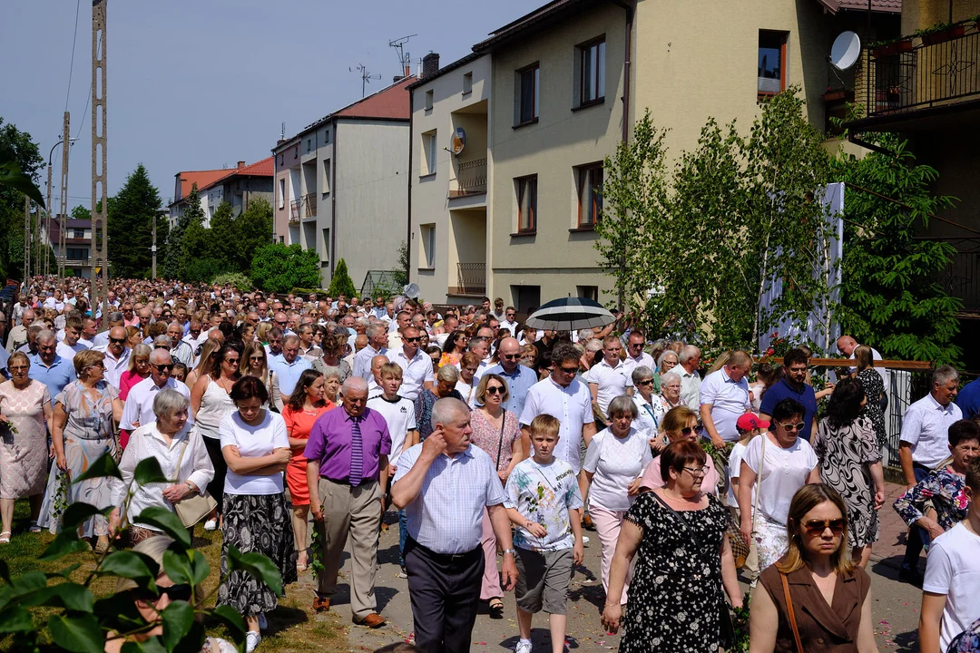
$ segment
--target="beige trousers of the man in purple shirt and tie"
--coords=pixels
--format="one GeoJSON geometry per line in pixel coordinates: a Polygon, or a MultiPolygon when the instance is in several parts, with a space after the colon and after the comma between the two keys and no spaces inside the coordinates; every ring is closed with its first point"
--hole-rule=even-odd
{"type": "Polygon", "coordinates": [[[317,593],[329,597],[336,591],[340,556],[351,538],[351,612],[363,620],[375,612],[374,576],[377,563],[377,534],[381,523],[381,489],[377,481],[357,488],[319,480],[323,521],[317,522],[322,542],[323,571],[317,574],[317,593]]]}

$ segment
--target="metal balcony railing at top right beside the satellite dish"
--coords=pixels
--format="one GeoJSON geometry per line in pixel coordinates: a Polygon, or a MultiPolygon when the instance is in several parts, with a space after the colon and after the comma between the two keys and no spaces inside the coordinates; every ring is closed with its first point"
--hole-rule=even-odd
{"type": "Polygon", "coordinates": [[[941,106],[980,95],[980,30],[971,22],[873,48],[867,116],[941,106]]]}

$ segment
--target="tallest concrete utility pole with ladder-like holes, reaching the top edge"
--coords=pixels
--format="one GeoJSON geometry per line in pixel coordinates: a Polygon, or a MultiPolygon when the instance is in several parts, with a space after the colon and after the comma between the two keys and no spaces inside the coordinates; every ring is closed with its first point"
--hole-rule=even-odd
{"type": "MultiPolygon", "coordinates": [[[[106,3],[92,1],[92,307],[109,316],[109,229],[106,199],[106,3]]],[[[67,137],[66,137],[67,138],[67,137]]]]}

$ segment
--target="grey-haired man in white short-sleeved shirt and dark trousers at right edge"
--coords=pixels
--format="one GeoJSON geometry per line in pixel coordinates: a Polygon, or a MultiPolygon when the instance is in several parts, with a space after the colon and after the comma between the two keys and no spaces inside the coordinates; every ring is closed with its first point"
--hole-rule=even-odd
{"type": "MultiPolygon", "coordinates": [[[[942,365],[932,374],[929,394],[915,401],[902,418],[899,458],[906,484],[911,490],[950,455],[950,426],[962,419],[962,411],[953,402],[959,385],[959,373],[952,365],[942,365]]],[[[906,555],[902,561],[901,578],[909,583],[919,580],[916,565],[923,542],[929,536],[913,526],[906,539],[906,555]]]]}

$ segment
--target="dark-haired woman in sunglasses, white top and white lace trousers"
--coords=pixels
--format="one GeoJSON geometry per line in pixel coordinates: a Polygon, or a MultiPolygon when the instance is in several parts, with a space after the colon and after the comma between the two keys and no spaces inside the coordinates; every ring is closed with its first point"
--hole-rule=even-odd
{"type": "Polygon", "coordinates": [[[807,424],[805,408],[796,399],[783,399],[772,409],[769,430],[754,438],[742,454],[738,507],[747,542],[756,538],[759,568],[765,569],[786,552],[791,497],[809,483],[820,483],[816,453],[800,437],[807,424]],[[758,487],[757,487],[758,484],[758,487]],[[755,529],[753,489],[756,488],[755,529]]]}

